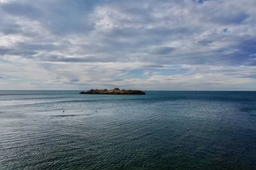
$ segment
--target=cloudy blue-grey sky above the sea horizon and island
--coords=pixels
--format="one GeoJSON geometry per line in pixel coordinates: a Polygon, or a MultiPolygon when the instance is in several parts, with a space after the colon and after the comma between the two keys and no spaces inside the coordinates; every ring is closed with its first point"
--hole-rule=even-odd
{"type": "Polygon", "coordinates": [[[0,89],[256,90],[255,0],[0,0],[0,89]]]}

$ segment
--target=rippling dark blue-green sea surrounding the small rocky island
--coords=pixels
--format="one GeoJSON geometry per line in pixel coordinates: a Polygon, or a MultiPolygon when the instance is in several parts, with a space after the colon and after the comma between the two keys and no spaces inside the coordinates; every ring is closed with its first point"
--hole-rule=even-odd
{"type": "Polygon", "coordinates": [[[256,169],[256,92],[146,92],[0,91],[0,169],[256,169]]]}

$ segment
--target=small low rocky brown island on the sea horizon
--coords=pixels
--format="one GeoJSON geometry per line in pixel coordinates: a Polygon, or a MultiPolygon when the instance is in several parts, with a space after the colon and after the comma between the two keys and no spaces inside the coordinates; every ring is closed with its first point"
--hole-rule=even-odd
{"type": "Polygon", "coordinates": [[[100,94],[100,95],[146,95],[144,91],[133,89],[90,89],[88,91],[82,91],[80,94],[100,94]]]}

